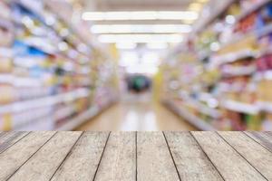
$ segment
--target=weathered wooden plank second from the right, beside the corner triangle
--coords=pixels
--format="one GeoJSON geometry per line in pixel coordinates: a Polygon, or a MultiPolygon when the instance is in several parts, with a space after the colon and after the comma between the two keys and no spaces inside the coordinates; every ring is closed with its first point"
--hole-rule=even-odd
{"type": "Polygon", "coordinates": [[[272,153],[243,132],[219,132],[238,153],[245,157],[267,180],[272,180],[272,153]]]}

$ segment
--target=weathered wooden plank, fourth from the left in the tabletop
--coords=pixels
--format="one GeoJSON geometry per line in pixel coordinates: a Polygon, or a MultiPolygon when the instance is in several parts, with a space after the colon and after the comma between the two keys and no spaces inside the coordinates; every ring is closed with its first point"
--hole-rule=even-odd
{"type": "Polygon", "coordinates": [[[109,132],[84,132],[52,180],[93,180],[109,132]]]}

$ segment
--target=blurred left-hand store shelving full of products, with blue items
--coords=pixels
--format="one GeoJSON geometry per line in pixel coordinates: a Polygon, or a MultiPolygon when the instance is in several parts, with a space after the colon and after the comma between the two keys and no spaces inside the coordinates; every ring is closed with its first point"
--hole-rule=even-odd
{"type": "Polygon", "coordinates": [[[7,71],[0,65],[0,130],[73,130],[114,102],[111,57],[86,43],[44,1],[31,2],[0,3],[10,14],[0,13],[0,26],[13,33],[0,50],[10,62],[7,71]]]}

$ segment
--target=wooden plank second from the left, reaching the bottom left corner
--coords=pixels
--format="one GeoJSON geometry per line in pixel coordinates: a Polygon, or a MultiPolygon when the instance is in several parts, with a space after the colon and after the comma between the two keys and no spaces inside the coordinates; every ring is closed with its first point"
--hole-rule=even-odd
{"type": "Polygon", "coordinates": [[[12,176],[55,132],[32,132],[0,154],[0,180],[12,176]]]}

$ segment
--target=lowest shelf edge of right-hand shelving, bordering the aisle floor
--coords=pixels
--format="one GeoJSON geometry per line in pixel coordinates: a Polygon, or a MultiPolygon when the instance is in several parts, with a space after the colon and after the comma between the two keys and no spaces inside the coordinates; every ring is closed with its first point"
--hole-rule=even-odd
{"type": "Polygon", "coordinates": [[[206,123],[205,120],[199,119],[199,117],[189,113],[188,110],[185,110],[180,106],[177,106],[173,101],[164,100],[162,102],[166,105],[167,108],[169,108],[171,111],[173,111],[180,117],[186,119],[191,125],[195,126],[197,129],[205,131],[217,130],[214,127],[212,127],[209,123],[206,123]]]}

